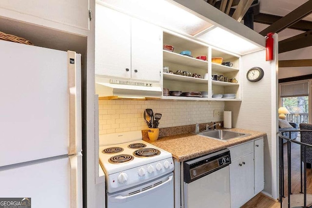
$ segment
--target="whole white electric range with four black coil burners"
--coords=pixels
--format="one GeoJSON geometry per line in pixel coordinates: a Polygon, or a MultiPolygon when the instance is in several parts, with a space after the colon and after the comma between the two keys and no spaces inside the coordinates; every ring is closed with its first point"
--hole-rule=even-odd
{"type": "Polygon", "coordinates": [[[142,132],[100,135],[99,163],[107,208],[173,208],[172,154],[142,140],[142,132]]]}

